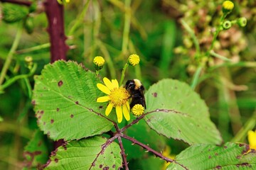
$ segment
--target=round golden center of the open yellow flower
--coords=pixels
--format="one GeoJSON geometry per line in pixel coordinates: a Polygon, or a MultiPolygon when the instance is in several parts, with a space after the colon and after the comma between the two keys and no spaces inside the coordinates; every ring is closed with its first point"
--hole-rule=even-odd
{"type": "Polygon", "coordinates": [[[110,93],[110,102],[115,106],[124,105],[129,99],[129,92],[123,87],[113,89],[110,93]]]}

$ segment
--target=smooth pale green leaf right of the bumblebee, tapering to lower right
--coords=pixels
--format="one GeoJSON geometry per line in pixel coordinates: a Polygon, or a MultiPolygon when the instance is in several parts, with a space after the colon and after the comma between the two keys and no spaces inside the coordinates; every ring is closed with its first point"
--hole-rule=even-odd
{"type": "Polygon", "coordinates": [[[188,84],[164,79],[145,94],[146,123],[159,134],[188,144],[220,144],[222,139],[210,121],[206,103],[188,84]]]}

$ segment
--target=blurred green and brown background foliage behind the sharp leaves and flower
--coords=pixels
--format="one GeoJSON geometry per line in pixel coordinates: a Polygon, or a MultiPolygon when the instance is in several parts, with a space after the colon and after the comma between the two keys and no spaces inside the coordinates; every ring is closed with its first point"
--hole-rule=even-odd
{"type": "MultiPolygon", "coordinates": [[[[167,77],[191,84],[198,67],[194,58],[196,48],[191,35],[181,26],[181,19],[193,29],[201,50],[205,51],[210,47],[213,32],[218,26],[223,1],[137,0],[131,3],[130,16],[124,5],[127,0],[92,0],[88,6],[86,2],[71,1],[65,4],[66,42],[70,45],[68,60],[82,62],[93,70],[93,57],[101,55],[107,63],[107,67],[101,70],[101,76],[119,78],[127,57],[137,53],[141,58],[140,66],[129,69],[127,79],[141,79],[148,89],[152,83],[167,77]],[[85,15],[80,17],[82,12],[85,15]],[[129,18],[131,24],[127,40],[123,31],[129,18]],[[77,27],[72,30],[74,24],[77,27]],[[117,72],[113,72],[113,68],[117,72]]],[[[46,15],[42,2],[35,3],[36,11],[29,9],[28,16],[18,21],[25,24],[24,28],[30,26],[26,29],[31,34],[23,30],[6,80],[28,74],[25,61],[28,56],[38,64],[35,74],[40,74],[43,66],[50,62],[46,15]],[[27,18],[29,21],[26,21],[27,18]]],[[[247,142],[245,130],[255,128],[256,1],[234,3],[235,8],[227,19],[232,21],[245,17],[247,26],[232,26],[229,30],[221,31],[213,47],[216,53],[232,62],[210,57],[196,91],[210,108],[211,118],[224,141],[247,142]]],[[[2,5],[4,3],[0,7],[1,13],[4,12],[2,5]]],[[[0,69],[14,42],[17,26],[18,23],[0,21],[0,69]]],[[[21,169],[26,164],[23,149],[37,129],[28,84],[33,87],[33,77],[18,79],[4,89],[4,94],[0,94],[0,153],[4,153],[0,154],[1,169],[21,169]]],[[[167,142],[171,154],[178,154],[187,147],[175,140],[167,142]]],[[[153,158],[145,159],[151,162],[153,158]]],[[[136,162],[131,162],[131,166],[134,165],[136,162]]],[[[141,166],[145,167],[146,164],[141,166]]]]}

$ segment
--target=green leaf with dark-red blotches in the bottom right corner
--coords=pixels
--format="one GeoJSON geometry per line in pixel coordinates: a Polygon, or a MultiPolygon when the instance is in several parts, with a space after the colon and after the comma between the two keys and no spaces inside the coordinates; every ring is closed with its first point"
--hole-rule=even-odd
{"type": "Polygon", "coordinates": [[[256,169],[256,152],[246,144],[193,145],[176,156],[167,169],[256,169]]]}

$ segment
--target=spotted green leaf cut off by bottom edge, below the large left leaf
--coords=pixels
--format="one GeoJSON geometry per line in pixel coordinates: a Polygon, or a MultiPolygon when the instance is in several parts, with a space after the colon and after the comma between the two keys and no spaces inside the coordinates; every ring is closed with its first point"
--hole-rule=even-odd
{"type": "Polygon", "coordinates": [[[119,169],[121,149],[103,137],[68,142],[53,152],[46,169],[119,169]]]}

